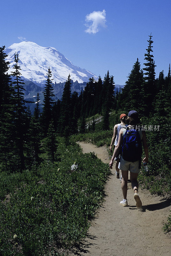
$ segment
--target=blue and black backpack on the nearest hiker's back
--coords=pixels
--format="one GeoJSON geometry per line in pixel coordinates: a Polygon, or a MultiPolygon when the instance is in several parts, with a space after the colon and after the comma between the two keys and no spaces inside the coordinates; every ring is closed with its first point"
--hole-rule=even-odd
{"type": "Polygon", "coordinates": [[[128,162],[140,161],[142,156],[142,143],[136,129],[127,128],[123,137],[122,157],[128,162]]]}

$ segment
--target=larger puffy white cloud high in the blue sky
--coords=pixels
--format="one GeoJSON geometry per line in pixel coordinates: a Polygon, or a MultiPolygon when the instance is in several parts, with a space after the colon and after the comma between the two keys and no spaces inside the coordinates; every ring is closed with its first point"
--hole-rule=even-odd
{"type": "Polygon", "coordinates": [[[100,11],[91,12],[90,14],[87,14],[85,16],[85,21],[86,21],[85,26],[87,27],[85,32],[89,34],[91,33],[95,34],[99,32],[100,27],[103,27],[103,28],[106,27],[106,11],[103,10],[102,12],[100,11]],[[92,24],[90,24],[91,21],[93,21],[92,24]]]}

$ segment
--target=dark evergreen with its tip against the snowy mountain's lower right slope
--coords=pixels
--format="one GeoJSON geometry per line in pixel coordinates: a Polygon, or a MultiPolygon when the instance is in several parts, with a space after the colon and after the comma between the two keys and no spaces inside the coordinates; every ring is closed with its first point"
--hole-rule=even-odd
{"type": "Polygon", "coordinates": [[[63,88],[60,111],[60,132],[63,134],[65,127],[71,127],[71,76],[68,76],[63,88]]]}

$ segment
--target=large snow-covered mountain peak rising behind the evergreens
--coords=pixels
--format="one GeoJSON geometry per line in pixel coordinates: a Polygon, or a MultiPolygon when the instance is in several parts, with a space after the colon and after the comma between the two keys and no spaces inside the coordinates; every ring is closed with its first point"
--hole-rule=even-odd
{"type": "Polygon", "coordinates": [[[8,54],[6,60],[10,62],[9,74],[15,64],[14,53],[18,52],[22,77],[39,85],[45,84],[48,68],[52,72],[53,83],[65,82],[69,74],[71,79],[74,82],[77,80],[78,83],[87,82],[92,76],[97,79],[90,71],[74,66],[53,47],[42,47],[33,42],[23,41],[12,44],[4,52],[8,54]]]}

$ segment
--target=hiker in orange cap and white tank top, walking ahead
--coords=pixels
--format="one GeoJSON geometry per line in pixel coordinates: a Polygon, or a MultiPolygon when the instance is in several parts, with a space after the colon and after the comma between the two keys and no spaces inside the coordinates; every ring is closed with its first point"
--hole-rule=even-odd
{"type": "MultiPolygon", "coordinates": [[[[126,128],[125,126],[125,120],[126,120],[126,115],[125,114],[121,114],[120,115],[120,121],[121,123],[120,124],[115,124],[114,126],[114,131],[113,131],[113,136],[112,136],[112,141],[111,141],[111,144],[110,144],[110,151],[112,152],[112,145],[114,143],[114,149],[117,145],[117,142],[118,142],[118,138],[119,138],[119,132],[122,128],[126,128]]],[[[119,179],[119,168],[118,168],[118,164],[119,164],[119,155],[120,155],[120,152],[118,152],[117,156],[115,157],[115,169],[116,169],[116,178],[119,179]]],[[[122,174],[121,174],[121,178],[120,180],[122,180],[122,174]]]]}

